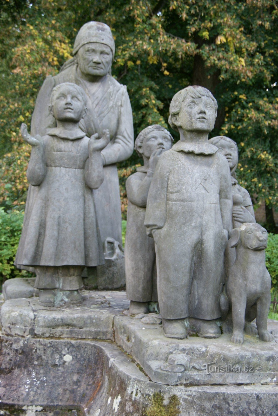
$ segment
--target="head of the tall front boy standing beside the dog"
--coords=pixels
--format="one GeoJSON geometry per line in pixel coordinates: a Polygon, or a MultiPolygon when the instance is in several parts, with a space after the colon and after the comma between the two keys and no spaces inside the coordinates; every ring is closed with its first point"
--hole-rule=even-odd
{"type": "Polygon", "coordinates": [[[217,102],[212,93],[190,85],[174,95],[170,103],[169,124],[178,131],[212,131],[217,115],[217,102]]]}

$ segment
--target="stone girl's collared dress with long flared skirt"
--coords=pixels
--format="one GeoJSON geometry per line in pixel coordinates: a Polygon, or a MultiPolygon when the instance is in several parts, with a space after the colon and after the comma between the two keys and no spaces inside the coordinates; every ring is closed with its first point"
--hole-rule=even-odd
{"type": "MultiPolygon", "coordinates": [[[[38,174],[28,193],[15,263],[24,266],[96,266],[104,264],[93,193],[86,184],[89,138],[80,129],[54,128],[42,137],[38,174]]],[[[36,149],[32,149],[36,152],[36,149]]],[[[28,174],[28,172],[27,172],[28,174]]],[[[34,175],[33,175],[34,176],[34,175]]]]}

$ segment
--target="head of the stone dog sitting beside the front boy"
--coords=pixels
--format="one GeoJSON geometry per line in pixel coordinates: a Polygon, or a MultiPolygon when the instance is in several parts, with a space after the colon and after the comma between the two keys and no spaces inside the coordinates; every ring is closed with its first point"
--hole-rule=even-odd
{"type": "Polygon", "coordinates": [[[230,233],[229,245],[231,248],[241,244],[250,250],[265,250],[267,246],[267,231],[256,223],[244,223],[234,228],[230,233]]]}

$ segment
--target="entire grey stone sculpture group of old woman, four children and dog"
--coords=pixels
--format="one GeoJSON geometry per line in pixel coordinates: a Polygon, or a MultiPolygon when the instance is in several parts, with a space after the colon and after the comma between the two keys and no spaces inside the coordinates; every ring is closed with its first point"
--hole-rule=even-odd
{"type": "MultiPolygon", "coordinates": [[[[32,152],[15,263],[35,269],[44,306],[81,301],[84,267],[105,263],[108,241],[121,243],[116,163],[132,154],[133,119],[126,88],[111,76],[114,54],[110,28],[86,23],[73,58],[39,92],[31,134],[22,125],[32,152]]],[[[235,343],[244,329],[256,333],[256,318],[259,338],[271,341],[267,233],[236,181],[236,143],[208,139],[216,114],[212,93],[189,86],[170,104],[180,140],[172,145],[153,125],[135,141],[144,163],[126,181],[129,312],[147,314],[158,300],[165,337],[186,338],[187,318],[199,337],[217,338],[222,319],[235,343]]]]}

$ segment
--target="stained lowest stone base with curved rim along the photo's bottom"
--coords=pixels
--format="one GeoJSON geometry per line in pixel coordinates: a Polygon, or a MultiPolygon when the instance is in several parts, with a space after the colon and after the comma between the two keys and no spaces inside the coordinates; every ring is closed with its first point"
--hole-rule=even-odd
{"type": "Polygon", "coordinates": [[[5,336],[1,341],[0,412],[5,416],[160,414],[174,396],[181,416],[278,412],[277,385],[164,386],[149,381],[108,342],[5,336]]]}

